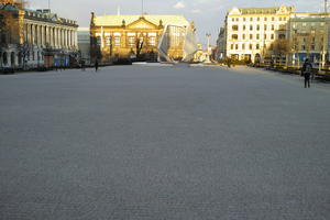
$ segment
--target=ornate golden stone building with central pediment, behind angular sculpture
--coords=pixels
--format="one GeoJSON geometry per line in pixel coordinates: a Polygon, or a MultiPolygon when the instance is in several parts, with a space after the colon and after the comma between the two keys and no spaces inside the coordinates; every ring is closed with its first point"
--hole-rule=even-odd
{"type": "Polygon", "coordinates": [[[188,29],[195,34],[194,23],[182,15],[97,16],[91,13],[91,57],[103,62],[113,57],[183,59],[187,55],[185,50],[194,47],[183,40],[188,29]]]}

